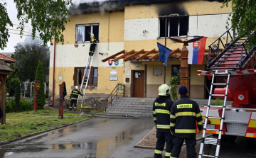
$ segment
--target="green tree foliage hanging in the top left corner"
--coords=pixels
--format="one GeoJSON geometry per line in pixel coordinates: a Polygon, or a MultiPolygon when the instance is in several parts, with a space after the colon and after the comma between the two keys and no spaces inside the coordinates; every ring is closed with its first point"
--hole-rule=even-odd
{"type": "MultiPolygon", "coordinates": [[[[9,26],[13,26],[6,11],[6,1],[0,2],[0,48],[3,50],[9,38],[9,26]]],[[[17,18],[20,35],[23,35],[24,24],[31,20],[32,36],[38,31],[43,44],[55,38],[56,43],[64,43],[63,31],[68,23],[68,8],[72,0],[14,0],[18,11],[17,18]]],[[[52,43],[51,43],[52,44],[52,43]]]]}

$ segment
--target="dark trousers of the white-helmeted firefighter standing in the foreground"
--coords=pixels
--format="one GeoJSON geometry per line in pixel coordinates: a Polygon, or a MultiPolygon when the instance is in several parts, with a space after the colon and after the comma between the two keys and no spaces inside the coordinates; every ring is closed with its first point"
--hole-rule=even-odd
{"type": "Polygon", "coordinates": [[[171,132],[156,132],[156,149],[154,152],[154,158],[161,158],[162,152],[164,150],[164,144],[166,142],[166,153],[165,158],[169,158],[171,156],[171,150],[174,147],[173,144],[173,135],[171,132]]]}

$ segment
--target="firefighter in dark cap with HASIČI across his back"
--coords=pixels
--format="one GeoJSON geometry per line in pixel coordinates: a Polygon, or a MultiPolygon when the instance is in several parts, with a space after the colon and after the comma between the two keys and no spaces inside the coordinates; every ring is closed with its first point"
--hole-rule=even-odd
{"type": "Polygon", "coordinates": [[[203,129],[203,121],[198,103],[188,98],[187,93],[186,86],[181,86],[178,89],[181,98],[171,107],[171,134],[175,132],[171,158],[178,158],[184,140],[187,157],[196,158],[196,121],[199,132],[203,129]]]}

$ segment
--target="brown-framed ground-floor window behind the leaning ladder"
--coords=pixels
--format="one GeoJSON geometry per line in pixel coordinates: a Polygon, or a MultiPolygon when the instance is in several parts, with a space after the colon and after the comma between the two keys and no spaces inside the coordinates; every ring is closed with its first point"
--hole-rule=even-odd
{"type": "MultiPolygon", "coordinates": [[[[85,72],[84,67],[75,67],[75,76],[74,76],[75,86],[81,86],[84,72],[85,72]]],[[[88,77],[88,75],[89,75],[89,72],[86,74],[86,77],[88,77]]],[[[92,67],[92,69],[90,70],[90,77],[89,77],[87,86],[97,86],[97,79],[98,79],[98,69],[97,67],[92,67]]]]}

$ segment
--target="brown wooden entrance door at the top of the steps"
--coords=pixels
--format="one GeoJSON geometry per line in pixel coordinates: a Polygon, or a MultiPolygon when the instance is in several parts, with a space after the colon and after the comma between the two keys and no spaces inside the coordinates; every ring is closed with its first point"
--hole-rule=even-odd
{"type": "Polygon", "coordinates": [[[144,97],[144,71],[133,72],[133,97],[144,97]]]}

